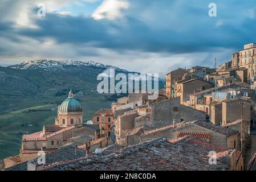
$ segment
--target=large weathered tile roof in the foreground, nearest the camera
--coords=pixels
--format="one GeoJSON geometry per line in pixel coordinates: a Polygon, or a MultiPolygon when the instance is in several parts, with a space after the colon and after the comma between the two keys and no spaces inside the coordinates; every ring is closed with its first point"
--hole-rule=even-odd
{"type": "MultiPolygon", "coordinates": [[[[166,139],[155,139],[107,156],[94,155],[91,158],[70,160],[66,164],[58,164],[45,170],[51,171],[113,171],[113,170],[230,170],[230,167],[217,159],[216,165],[208,162],[209,152],[225,152],[229,149],[213,146],[204,140],[185,137],[177,142],[166,139]]],[[[225,153],[224,153],[225,154],[225,153]]]]}

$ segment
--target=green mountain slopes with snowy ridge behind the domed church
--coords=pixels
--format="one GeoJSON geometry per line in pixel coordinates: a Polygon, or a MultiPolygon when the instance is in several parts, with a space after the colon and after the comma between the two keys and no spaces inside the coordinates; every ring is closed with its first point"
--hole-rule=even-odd
{"type": "MultiPolygon", "coordinates": [[[[56,107],[70,89],[83,107],[83,122],[126,94],[97,93],[97,75],[109,68],[115,73],[136,73],[94,61],[33,60],[0,67],[0,159],[17,155],[25,133],[42,130],[56,117],[56,107]]],[[[163,88],[164,81],[159,81],[163,88]]]]}

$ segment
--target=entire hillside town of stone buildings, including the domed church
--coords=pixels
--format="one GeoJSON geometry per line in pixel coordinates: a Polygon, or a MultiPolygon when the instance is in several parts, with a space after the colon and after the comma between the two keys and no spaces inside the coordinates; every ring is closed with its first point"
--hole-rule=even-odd
{"type": "Polygon", "coordinates": [[[256,44],[214,68],[166,73],[156,100],[131,93],[83,123],[72,90],[52,125],[22,137],[6,171],[256,170],[256,44]],[[210,163],[214,157],[216,162],[210,163]],[[43,163],[38,158],[45,157],[43,163]]]}

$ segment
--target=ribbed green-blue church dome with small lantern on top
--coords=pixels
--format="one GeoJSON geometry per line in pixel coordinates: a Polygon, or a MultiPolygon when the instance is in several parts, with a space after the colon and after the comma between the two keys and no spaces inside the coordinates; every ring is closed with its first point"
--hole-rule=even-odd
{"type": "Polygon", "coordinates": [[[59,107],[59,111],[62,113],[70,112],[82,112],[82,106],[79,101],[73,97],[72,91],[68,94],[68,98],[62,102],[59,107]]]}

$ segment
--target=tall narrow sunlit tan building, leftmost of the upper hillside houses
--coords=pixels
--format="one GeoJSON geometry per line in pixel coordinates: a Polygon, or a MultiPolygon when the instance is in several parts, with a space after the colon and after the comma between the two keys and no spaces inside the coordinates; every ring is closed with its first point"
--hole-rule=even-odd
{"type": "Polygon", "coordinates": [[[165,76],[165,89],[166,89],[166,97],[167,98],[173,98],[174,97],[174,79],[180,78],[184,76],[185,73],[188,73],[188,70],[178,68],[175,69],[169,73],[166,74],[165,76]]]}

